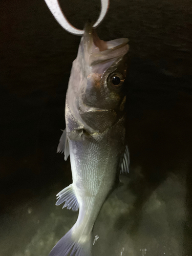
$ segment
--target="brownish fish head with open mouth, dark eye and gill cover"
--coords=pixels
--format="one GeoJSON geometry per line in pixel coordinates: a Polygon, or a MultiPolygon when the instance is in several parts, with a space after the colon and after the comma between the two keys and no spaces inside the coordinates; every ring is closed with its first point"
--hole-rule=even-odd
{"type": "Polygon", "coordinates": [[[122,115],[127,42],[126,38],[100,40],[91,23],[84,28],[69,91],[75,117],[92,133],[103,132],[122,115]]]}

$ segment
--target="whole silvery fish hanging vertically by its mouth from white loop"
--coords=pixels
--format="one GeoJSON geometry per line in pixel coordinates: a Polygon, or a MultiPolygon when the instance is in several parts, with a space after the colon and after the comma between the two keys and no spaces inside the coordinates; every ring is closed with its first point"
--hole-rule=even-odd
{"type": "Polygon", "coordinates": [[[119,172],[129,173],[123,89],[128,41],[103,41],[91,22],[84,27],[66,94],[66,129],[57,147],[65,160],[70,156],[73,183],[57,194],[56,205],[79,214],[49,256],[91,255],[99,211],[119,172]]]}

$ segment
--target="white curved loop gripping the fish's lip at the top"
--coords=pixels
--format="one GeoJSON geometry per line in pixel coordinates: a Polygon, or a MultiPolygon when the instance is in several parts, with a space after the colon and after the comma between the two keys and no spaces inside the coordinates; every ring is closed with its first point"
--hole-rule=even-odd
{"type": "MultiPolygon", "coordinates": [[[[47,6],[49,7],[51,13],[53,14],[54,18],[57,20],[57,22],[60,24],[60,26],[67,30],[69,33],[74,35],[83,35],[84,30],[77,29],[71,25],[71,23],[66,18],[65,14],[62,12],[61,7],[59,5],[58,0],[45,0],[47,6]]],[[[103,18],[106,15],[106,12],[109,8],[110,0],[101,0],[101,11],[100,15],[96,21],[96,23],[93,25],[94,28],[98,27],[99,24],[102,22],[103,18]]]]}

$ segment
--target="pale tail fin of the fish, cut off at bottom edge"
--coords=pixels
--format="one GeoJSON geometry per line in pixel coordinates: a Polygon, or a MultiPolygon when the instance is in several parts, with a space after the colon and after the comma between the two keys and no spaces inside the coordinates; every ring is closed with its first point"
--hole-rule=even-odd
{"type": "Polygon", "coordinates": [[[86,239],[79,238],[78,242],[71,235],[72,229],[53,247],[49,256],[91,256],[91,234],[86,239]]]}

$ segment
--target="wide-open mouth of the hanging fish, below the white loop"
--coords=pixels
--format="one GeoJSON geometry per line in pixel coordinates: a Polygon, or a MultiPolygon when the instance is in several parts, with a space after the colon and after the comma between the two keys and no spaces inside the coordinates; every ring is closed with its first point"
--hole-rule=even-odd
{"type": "Polygon", "coordinates": [[[92,22],[87,22],[84,26],[82,36],[84,54],[88,53],[89,66],[95,66],[104,61],[110,61],[124,56],[129,51],[127,38],[118,38],[111,41],[103,41],[97,35],[92,22]]]}

